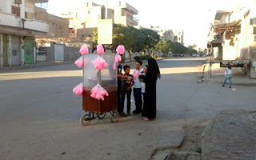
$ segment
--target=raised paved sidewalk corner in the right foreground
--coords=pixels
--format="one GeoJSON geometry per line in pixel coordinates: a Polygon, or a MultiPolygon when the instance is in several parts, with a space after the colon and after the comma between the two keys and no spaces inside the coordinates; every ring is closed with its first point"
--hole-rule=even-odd
{"type": "Polygon", "coordinates": [[[202,138],[202,160],[256,158],[256,111],[223,110],[211,120],[202,138]]]}

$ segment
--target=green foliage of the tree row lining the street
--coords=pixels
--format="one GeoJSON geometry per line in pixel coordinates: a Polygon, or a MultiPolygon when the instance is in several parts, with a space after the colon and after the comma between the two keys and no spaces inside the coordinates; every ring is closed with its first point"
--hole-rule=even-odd
{"type": "MultiPolygon", "coordinates": [[[[172,42],[168,39],[160,40],[160,36],[157,32],[150,29],[136,29],[133,26],[122,26],[120,24],[114,24],[113,27],[113,44],[111,50],[115,50],[118,45],[124,45],[126,50],[133,52],[146,52],[147,50],[161,50],[163,53],[169,52],[175,54],[194,54],[197,50],[194,50],[193,46],[183,46],[179,42],[172,42]]],[[[98,44],[98,30],[94,30],[92,41],[94,46],[98,44]]]]}

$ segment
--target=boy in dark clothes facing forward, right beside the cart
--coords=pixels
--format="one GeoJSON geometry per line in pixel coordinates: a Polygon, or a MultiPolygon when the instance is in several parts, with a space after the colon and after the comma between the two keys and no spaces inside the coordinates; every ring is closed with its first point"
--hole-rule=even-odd
{"type": "Polygon", "coordinates": [[[130,94],[131,87],[134,86],[134,78],[133,75],[130,74],[130,66],[124,66],[123,70],[127,78],[122,79],[122,108],[119,110],[121,113],[120,116],[126,117],[126,114],[123,112],[125,99],[127,99],[127,115],[130,115],[130,94]]]}

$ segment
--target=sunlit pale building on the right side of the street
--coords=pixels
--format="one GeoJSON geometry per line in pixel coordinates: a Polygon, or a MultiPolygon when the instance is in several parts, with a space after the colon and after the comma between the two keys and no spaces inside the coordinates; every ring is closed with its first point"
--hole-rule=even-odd
{"type": "Polygon", "coordinates": [[[242,66],[256,78],[256,2],[241,2],[231,11],[218,10],[208,34],[210,53],[221,64],[242,66]]]}

